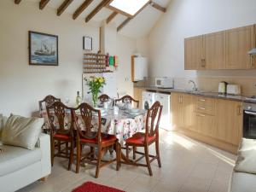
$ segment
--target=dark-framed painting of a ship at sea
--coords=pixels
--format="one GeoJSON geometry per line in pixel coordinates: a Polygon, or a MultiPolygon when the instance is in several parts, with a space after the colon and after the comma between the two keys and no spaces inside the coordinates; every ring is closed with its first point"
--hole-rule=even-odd
{"type": "Polygon", "coordinates": [[[58,36],[42,32],[28,32],[29,64],[35,66],[58,66],[58,36]]]}

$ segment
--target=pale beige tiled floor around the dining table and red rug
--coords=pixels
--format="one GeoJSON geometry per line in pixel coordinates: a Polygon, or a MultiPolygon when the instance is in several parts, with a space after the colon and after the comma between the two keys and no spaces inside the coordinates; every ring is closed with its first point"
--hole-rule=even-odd
{"type": "MultiPolygon", "coordinates": [[[[154,146],[151,148],[154,151],[154,146]]],[[[152,163],[153,177],[144,167],[115,164],[103,167],[94,178],[95,166],[67,172],[67,160],[55,159],[52,174],[46,182],[36,182],[19,192],[70,192],[86,181],[102,183],[126,192],[227,192],[236,156],[218,148],[196,142],[177,132],[160,131],[162,168],[152,163]]]]}

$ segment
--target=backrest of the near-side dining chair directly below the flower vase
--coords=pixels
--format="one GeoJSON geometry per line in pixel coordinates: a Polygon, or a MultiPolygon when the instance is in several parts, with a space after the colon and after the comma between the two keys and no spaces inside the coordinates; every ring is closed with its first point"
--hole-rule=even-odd
{"type": "Polygon", "coordinates": [[[92,108],[88,103],[83,102],[78,108],[73,108],[73,119],[78,137],[87,139],[96,138],[98,143],[102,142],[102,115],[100,110],[92,108]],[[79,115],[76,114],[77,112],[79,112],[79,115]],[[83,121],[84,130],[82,129],[79,120],[83,121]]]}

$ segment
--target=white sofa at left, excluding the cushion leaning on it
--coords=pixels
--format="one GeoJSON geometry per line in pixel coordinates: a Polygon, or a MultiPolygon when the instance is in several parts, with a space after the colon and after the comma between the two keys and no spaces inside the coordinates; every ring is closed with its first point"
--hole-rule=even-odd
{"type": "Polygon", "coordinates": [[[0,191],[13,192],[51,172],[49,135],[41,133],[36,148],[3,145],[0,139],[0,191]]]}

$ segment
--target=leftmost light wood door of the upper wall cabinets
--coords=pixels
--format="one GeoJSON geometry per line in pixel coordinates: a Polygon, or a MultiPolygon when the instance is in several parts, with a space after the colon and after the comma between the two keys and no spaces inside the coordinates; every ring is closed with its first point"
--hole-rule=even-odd
{"type": "Polygon", "coordinates": [[[203,36],[185,38],[185,70],[204,69],[202,62],[203,36]]]}

